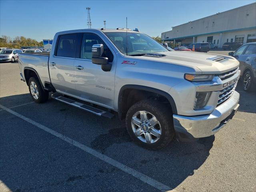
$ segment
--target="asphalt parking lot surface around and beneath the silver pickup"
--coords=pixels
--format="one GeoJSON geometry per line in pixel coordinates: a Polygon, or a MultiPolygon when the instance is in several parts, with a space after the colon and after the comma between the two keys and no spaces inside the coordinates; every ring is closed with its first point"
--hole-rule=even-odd
{"type": "Polygon", "coordinates": [[[32,102],[18,63],[0,63],[0,192],[256,191],[256,94],[215,136],[150,151],[124,122],[32,102]]]}

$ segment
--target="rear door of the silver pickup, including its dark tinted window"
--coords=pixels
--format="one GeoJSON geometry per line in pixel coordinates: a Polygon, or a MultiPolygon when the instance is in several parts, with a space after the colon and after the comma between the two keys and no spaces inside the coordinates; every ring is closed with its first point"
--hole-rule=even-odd
{"type": "Polygon", "coordinates": [[[54,56],[49,58],[49,73],[54,88],[63,94],[74,94],[74,58],[80,46],[80,34],[59,35],[54,56]]]}

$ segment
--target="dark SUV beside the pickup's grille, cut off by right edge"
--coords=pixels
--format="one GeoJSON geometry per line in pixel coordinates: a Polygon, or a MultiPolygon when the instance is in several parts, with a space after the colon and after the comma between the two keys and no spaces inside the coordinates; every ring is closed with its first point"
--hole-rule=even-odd
{"type": "Polygon", "coordinates": [[[246,43],[235,52],[229,52],[240,62],[240,70],[245,91],[252,91],[256,88],[256,42],[246,43]]]}

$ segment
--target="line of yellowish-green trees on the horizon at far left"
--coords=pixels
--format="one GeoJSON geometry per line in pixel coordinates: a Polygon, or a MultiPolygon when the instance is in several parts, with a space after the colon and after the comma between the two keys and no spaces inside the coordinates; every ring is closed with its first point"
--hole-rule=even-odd
{"type": "Polygon", "coordinates": [[[16,36],[14,39],[9,36],[2,35],[0,38],[0,47],[21,48],[22,46],[44,46],[43,42],[38,42],[24,36],[16,36]]]}

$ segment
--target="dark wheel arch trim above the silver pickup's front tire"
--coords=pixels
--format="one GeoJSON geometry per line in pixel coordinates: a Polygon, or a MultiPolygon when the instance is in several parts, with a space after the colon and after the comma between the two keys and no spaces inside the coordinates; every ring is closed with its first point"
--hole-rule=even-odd
{"type": "Polygon", "coordinates": [[[159,94],[161,96],[164,96],[170,102],[173,114],[177,114],[177,108],[176,108],[176,104],[174,102],[174,99],[167,92],[156,89],[156,88],[148,87],[148,86],[128,84],[128,85],[122,86],[122,88],[120,89],[119,94],[118,94],[118,115],[119,116],[121,116],[121,102],[122,102],[121,101],[121,96],[122,96],[122,93],[124,92],[124,90],[126,90],[126,89],[143,90],[143,91],[148,91],[148,92],[152,92],[152,93],[156,93],[156,94],[159,94]]]}

